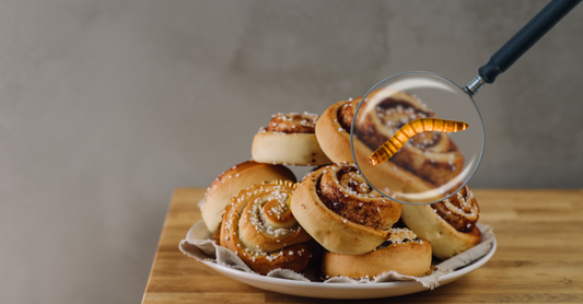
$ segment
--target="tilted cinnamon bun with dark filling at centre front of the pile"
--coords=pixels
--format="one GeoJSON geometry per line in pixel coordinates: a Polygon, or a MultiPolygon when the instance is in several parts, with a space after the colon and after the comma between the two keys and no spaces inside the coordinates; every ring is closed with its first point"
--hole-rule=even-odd
{"type": "Polygon", "coordinates": [[[354,164],[318,168],[300,184],[291,201],[300,224],[329,252],[369,253],[385,242],[400,217],[401,204],[385,199],[364,180],[354,164]]]}

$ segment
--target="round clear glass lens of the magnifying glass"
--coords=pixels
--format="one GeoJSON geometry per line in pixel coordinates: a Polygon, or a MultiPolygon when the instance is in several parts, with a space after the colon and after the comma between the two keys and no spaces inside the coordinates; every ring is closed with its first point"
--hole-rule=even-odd
{"type": "Polygon", "coordinates": [[[463,87],[434,73],[407,72],[382,81],[363,96],[350,141],[357,166],[378,192],[403,203],[433,203],[456,194],[471,178],[483,154],[485,131],[480,113],[463,87]],[[467,128],[451,132],[428,125],[440,119],[467,128]],[[395,135],[396,153],[373,165],[373,152],[395,135]]]}

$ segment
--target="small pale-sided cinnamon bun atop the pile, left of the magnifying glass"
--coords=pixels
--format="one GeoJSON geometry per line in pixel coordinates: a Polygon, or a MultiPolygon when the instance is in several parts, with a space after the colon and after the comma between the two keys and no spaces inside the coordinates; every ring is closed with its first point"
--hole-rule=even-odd
{"type": "Polygon", "coordinates": [[[269,125],[253,138],[253,159],[268,164],[330,164],[314,133],[317,119],[317,115],[307,113],[273,115],[269,125]]]}

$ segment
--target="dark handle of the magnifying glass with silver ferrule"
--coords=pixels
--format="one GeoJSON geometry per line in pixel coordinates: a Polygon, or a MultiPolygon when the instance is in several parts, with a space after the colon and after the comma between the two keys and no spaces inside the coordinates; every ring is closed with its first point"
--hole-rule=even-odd
{"type": "Polygon", "coordinates": [[[474,80],[468,83],[468,89],[473,94],[485,83],[493,83],[495,78],[505,72],[521,56],[523,56],[538,39],[552,28],[563,16],[565,16],[581,0],[552,0],[540,12],[538,12],[521,31],[490,57],[488,63],[478,69],[481,80],[474,80]]]}

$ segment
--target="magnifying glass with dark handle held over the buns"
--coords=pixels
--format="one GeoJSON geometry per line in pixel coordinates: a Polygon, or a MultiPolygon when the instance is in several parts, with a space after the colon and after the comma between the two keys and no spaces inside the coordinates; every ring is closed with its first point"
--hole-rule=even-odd
{"type": "Polygon", "coordinates": [[[580,2],[550,1],[465,86],[431,72],[399,73],[374,85],[359,101],[350,130],[352,156],[366,182],[401,203],[433,203],[460,190],[485,147],[473,97],[580,2]]]}

